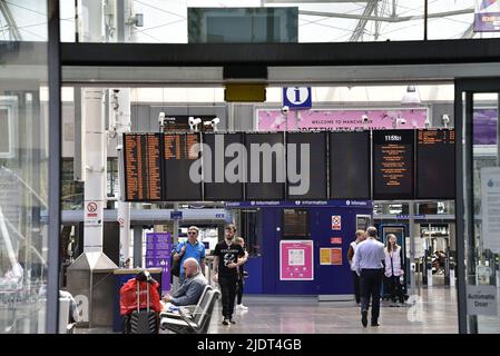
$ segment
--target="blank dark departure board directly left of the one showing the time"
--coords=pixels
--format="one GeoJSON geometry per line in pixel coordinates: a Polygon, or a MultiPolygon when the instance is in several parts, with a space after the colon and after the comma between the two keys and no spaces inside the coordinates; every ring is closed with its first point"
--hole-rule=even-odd
{"type": "Polygon", "coordinates": [[[330,198],[371,199],[370,131],[330,132],[330,198]]]}

